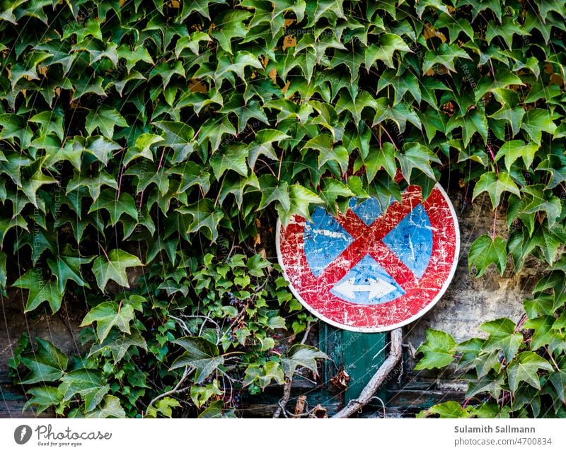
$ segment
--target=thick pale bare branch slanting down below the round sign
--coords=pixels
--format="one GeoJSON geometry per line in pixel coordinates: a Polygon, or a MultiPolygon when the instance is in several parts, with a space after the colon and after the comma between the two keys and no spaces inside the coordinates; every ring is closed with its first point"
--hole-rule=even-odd
{"type": "Polygon", "coordinates": [[[359,394],[357,399],[351,399],[348,401],[348,404],[343,408],[340,412],[336,413],[333,418],[348,418],[354,413],[357,413],[362,408],[366,406],[366,404],[371,401],[374,394],[379,389],[379,386],[383,384],[383,381],[386,380],[386,377],[393,371],[395,365],[399,362],[402,353],[402,346],[403,346],[403,329],[400,327],[391,331],[391,351],[389,351],[389,355],[387,356],[385,362],[379,367],[376,373],[371,377],[369,382],[366,384],[366,387],[362,390],[359,394]]]}

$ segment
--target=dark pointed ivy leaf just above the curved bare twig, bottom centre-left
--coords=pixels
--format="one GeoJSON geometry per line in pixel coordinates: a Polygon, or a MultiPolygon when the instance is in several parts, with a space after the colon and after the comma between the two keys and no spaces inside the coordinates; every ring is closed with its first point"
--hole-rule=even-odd
{"type": "Polygon", "coordinates": [[[224,365],[224,357],[219,355],[218,346],[202,336],[183,336],[174,343],[185,349],[185,352],[173,362],[171,370],[194,367],[195,384],[204,382],[218,367],[224,365]]]}

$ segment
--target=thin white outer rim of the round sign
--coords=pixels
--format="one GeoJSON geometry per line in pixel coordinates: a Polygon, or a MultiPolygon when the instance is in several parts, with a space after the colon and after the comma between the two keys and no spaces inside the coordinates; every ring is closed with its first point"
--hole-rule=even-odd
{"type": "Polygon", "coordinates": [[[446,293],[446,290],[448,289],[448,287],[449,287],[449,285],[452,281],[452,278],[454,278],[454,273],[456,273],[456,268],[458,267],[458,259],[460,258],[460,225],[458,225],[458,217],[456,217],[456,211],[454,210],[454,206],[452,206],[452,202],[450,201],[448,194],[446,194],[446,192],[444,191],[444,188],[438,182],[437,182],[437,184],[435,184],[434,187],[436,189],[439,189],[440,193],[442,194],[442,196],[444,196],[444,199],[446,200],[446,204],[448,204],[448,207],[450,208],[452,218],[454,219],[454,227],[455,227],[454,231],[456,232],[456,244],[454,246],[454,261],[452,261],[450,273],[448,274],[448,277],[446,278],[444,285],[442,285],[442,288],[440,288],[438,294],[434,297],[434,299],[432,299],[432,301],[429,303],[429,305],[424,307],[423,310],[421,310],[417,314],[414,314],[412,317],[405,319],[403,322],[398,322],[397,324],[391,324],[389,326],[376,326],[376,327],[346,326],[345,324],[340,324],[338,322],[333,321],[332,319],[328,319],[327,317],[323,316],[323,314],[320,314],[319,312],[314,310],[313,307],[308,305],[303,300],[303,298],[301,298],[301,295],[294,288],[294,286],[291,284],[291,281],[289,280],[289,276],[287,275],[287,270],[285,269],[285,266],[283,264],[283,259],[282,259],[282,254],[281,254],[281,226],[282,225],[281,225],[281,220],[279,218],[277,218],[277,232],[275,233],[275,247],[277,249],[277,261],[279,262],[279,266],[281,266],[285,280],[287,280],[287,282],[289,283],[289,288],[291,289],[291,293],[293,293],[295,298],[297,300],[299,300],[299,302],[301,302],[301,305],[303,305],[303,307],[305,307],[306,310],[308,310],[309,312],[314,314],[314,316],[316,316],[318,319],[326,322],[327,324],[330,324],[331,326],[338,327],[339,329],[344,329],[344,330],[349,330],[349,331],[354,331],[354,332],[363,332],[363,333],[366,333],[366,334],[376,334],[378,332],[387,332],[387,331],[397,329],[398,327],[406,326],[407,324],[410,324],[411,322],[415,321],[416,319],[419,319],[420,317],[422,317],[429,310],[431,310],[432,307],[434,307],[434,305],[437,305],[437,302],[442,298],[444,293],[446,293]]]}

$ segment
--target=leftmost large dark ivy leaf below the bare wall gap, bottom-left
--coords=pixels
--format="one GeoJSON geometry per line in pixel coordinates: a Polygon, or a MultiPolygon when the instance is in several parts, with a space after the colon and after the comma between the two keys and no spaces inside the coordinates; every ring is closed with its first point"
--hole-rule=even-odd
{"type": "Polygon", "coordinates": [[[30,373],[21,384],[37,384],[37,382],[57,381],[67,370],[69,359],[53,343],[36,339],[37,351],[21,356],[21,363],[28,367],[30,373]]]}

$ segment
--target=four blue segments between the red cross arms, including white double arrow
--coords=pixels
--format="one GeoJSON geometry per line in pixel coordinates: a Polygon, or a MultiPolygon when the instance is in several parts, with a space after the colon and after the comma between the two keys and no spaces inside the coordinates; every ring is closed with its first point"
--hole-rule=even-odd
{"type": "MultiPolygon", "coordinates": [[[[350,208],[367,226],[382,214],[375,198],[360,204],[352,199],[350,208]]],[[[417,278],[421,278],[432,255],[432,240],[429,216],[422,204],[418,204],[382,241],[417,278]]],[[[313,275],[320,276],[352,242],[354,238],[333,216],[323,208],[316,208],[304,229],[304,252],[313,275]]],[[[362,305],[381,304],[405,294],[395,279],[369,254],[335,283],[330,292],[343,300],[362,305]]]]}

